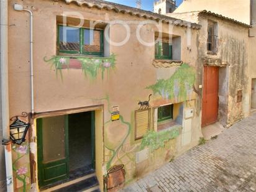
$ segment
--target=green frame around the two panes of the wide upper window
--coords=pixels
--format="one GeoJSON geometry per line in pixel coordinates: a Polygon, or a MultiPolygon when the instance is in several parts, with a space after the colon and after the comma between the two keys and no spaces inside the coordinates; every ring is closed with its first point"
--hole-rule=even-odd
{"type": "MultiPolygon", "coordinates": [[[[58,34],[57,34],[57,52],[58,53],[68,53],[68,54],[78,54],[78,55],[91,55],[91,56],[97,56],[97,57],[104,57],[104,30],[101,29],[91,29],[94,31],[100,32],[100,51],[99,52],[86,52],[84,50],[84,40],[85,40],[85,29],[89,28],[78,28],[79,29],[79,51],[76,50],[60,50],[60,27],[72,27],[68,25],[58,25],[58,34]]],[[[76,28],[76,27],[74,27],[76,28]]]]}

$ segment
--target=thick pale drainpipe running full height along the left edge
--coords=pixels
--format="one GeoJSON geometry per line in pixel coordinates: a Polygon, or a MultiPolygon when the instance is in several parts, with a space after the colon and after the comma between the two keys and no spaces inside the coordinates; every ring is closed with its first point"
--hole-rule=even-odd
{"type": "Polygon", "coordinates": [[[9,130],[9,84],[8,84],[8,1],[0,1],[1,14],[1,99],[2,99],[2,136],[6,160],[7,191],[14,191],[12,177],[12,152],[9,130]]]}

